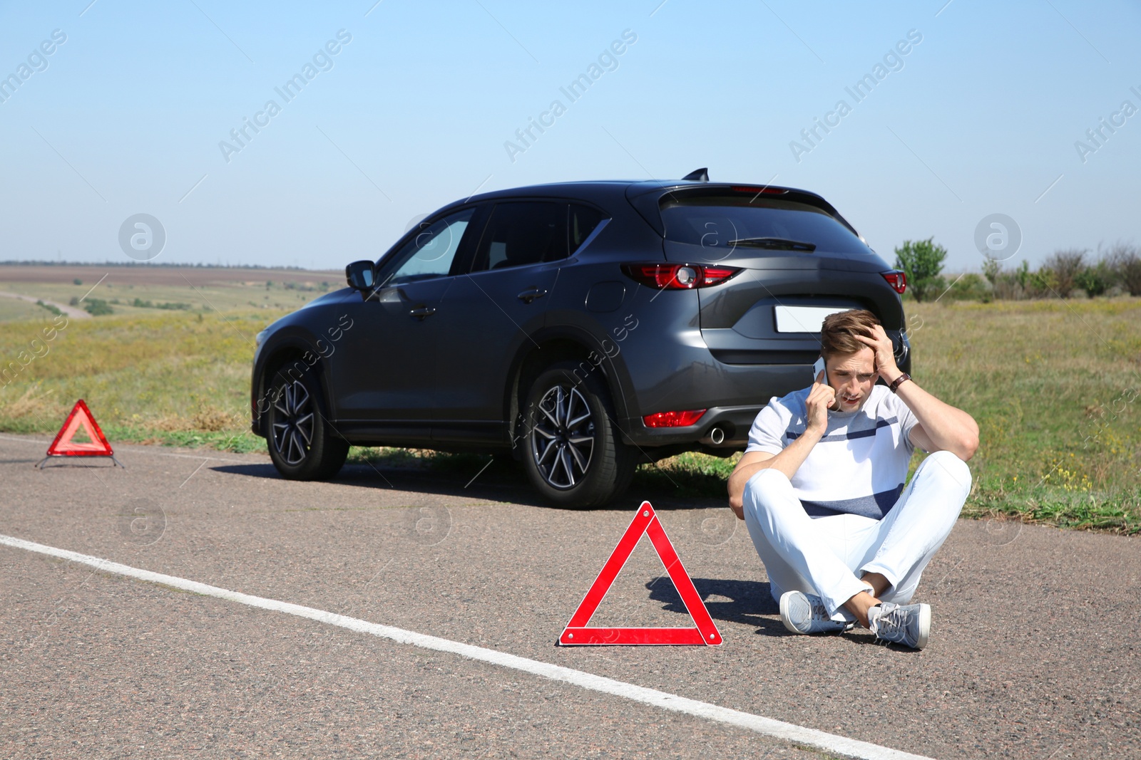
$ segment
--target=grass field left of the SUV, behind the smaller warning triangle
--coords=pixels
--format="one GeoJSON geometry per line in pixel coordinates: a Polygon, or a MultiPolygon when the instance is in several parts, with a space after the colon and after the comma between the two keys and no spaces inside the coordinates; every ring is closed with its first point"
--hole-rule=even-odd
{"type": "Polygon", "coordinates": [[[82,398],[115,440],[264,448],[245,432],[253,336],[281,312],[160,313],[72,319],[51,341],[47,312],[7,324],[0,370],[13,382],[0,387],[0,430],[55,432],[82,398]]]}

